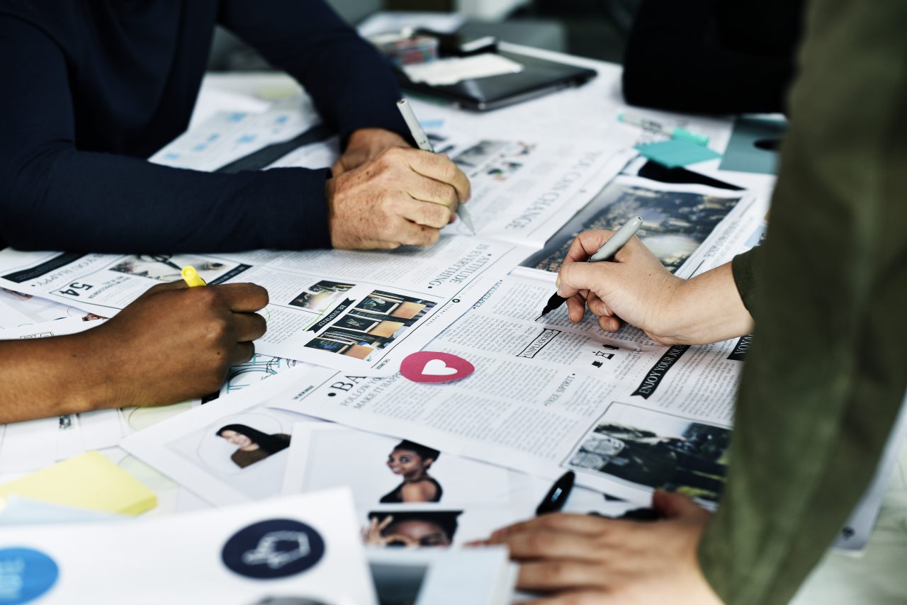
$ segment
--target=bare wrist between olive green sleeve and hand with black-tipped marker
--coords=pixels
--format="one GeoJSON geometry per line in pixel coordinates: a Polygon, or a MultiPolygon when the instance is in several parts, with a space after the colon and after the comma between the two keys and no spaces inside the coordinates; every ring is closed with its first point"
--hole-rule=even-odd
{"type": "Polygon", "coordinates": [[[662,309],[658,340],[670,345],[701,345],[753,331],[753,317],[737,292],[730,263],[680,281],[662,309]]]}

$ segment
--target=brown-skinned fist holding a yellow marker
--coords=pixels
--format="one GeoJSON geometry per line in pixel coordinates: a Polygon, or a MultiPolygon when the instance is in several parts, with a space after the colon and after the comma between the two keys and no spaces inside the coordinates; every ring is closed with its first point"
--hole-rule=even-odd
{"type": "Polygon", "coordinates": [[[161,284],[83,336],[101,354],[112,405],[171,404],[217,391],[230,366],[251,358],[267,329],[254,312],[267,304],[253,284],[161,284]]]}

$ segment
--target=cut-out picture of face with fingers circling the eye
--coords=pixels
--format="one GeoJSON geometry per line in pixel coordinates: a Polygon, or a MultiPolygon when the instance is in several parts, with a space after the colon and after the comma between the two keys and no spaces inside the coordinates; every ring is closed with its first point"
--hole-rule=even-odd
{"type": "Polygon", "coordinates": [[[381,548],[446,547],[453,543],[463,511],[369,512],[363,540],[381,548]]]}

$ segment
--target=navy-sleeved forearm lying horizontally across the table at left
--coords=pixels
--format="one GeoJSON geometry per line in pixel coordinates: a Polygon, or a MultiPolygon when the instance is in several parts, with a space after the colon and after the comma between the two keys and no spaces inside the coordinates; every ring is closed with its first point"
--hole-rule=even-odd
{"type": "Polygon", "coordinates": [[[61,145],[3,172],[0,229],[17,249],[176,253],[329,246],[326,171],[185,171],[61,145]]]}

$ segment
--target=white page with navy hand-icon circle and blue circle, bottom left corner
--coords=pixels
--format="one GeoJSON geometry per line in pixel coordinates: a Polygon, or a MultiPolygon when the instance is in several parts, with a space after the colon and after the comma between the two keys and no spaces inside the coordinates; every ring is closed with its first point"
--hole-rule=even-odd
{"type": "Polygon", "coordinates": [[[377,603],[346,490],[130,522],[5,527],[0,569],[9,602],[377,603]]]}

